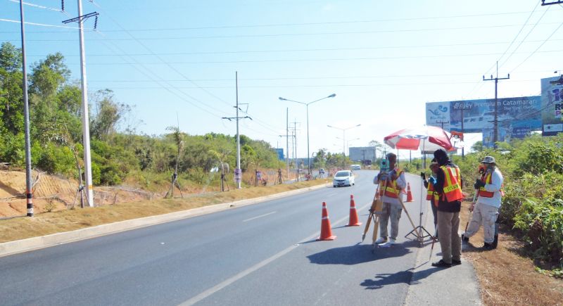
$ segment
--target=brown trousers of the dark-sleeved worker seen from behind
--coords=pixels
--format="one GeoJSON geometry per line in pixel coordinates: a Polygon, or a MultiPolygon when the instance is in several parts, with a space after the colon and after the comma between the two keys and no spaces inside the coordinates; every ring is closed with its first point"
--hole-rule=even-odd
{"type": "Polygon", "coordinates": [[[442,260],[448,264],[461,260],[462,240],[457,234],[460,228],[460,212],[442,212],[438,210],[438,236],[442,248],[442,260]]]}

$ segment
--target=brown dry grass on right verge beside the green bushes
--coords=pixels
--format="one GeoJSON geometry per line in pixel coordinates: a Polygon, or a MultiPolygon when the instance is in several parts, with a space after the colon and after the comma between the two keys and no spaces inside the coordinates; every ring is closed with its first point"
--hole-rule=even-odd
{"type": "MultiPolygon", "coordinates": [[[[469,214],[465,202],[461,224],[469,214]]],[[[471,238],[463,256],[475,267],[484,305],[563,305],[563,280],[536,272],[531,259],[521,257],[523,245],[514,236],[499,234],[498,248],[483,251],[483,230],[471,238]]]]}

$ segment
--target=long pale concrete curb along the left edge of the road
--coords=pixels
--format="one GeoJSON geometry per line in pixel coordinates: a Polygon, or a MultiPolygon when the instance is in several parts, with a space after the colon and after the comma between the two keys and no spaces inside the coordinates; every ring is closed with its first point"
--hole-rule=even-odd
{"type": "Polygon", "coordinates": [[[16,241],[8,241],[8,242],[0,243],[0,257],[13,255],[17,253],[24,253],[30,250],[38,250],[40,248],[48,248],[50,246],[58,246],[63,243],[70,243],[84,239],[115,234],[121,231],[129,231],[132,229],[139,229],[141,227],[149,227],[151,225],[161,224],[165,222],[172,222],[179,219],[186,219],[190,217],[206,215],[212,212],[220,212],[222,210],[240,208],[246,205],[262,203],[267,200],[276,200],[278,198],[284,198],[286,196],[293,196],[299,193],[305,193],[308,191],[321,189],[328,185],[329,184],[320,184],[308,188],[285,191],[281,193],[274,193],[269,196],[262,196],[260,198],[237,200],[234,202],[208,205],[201,208],[194,208],[191,210],[170,212],[164,215],[156,215],[150,217],[142,217],[139,219],[130,219],[120,222],[113,222],[109,224],[101,224],[101,225],[96,225],[95,227],[77,229],[75,231],[65,231],[63,233],[50,234],[46,236],[37,236],[37,237],[25,238],[16,241]]]}

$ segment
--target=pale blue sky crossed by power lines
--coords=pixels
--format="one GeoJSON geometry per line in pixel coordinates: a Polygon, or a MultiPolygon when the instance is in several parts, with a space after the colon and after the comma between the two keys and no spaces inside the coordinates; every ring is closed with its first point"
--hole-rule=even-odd
{"type": "MultiPolygon", "coordinates": [[[[77,1],[64,3],[61,12],[61,1],[25,1],[27,63],[61,52],[80,84],[77,24],[62,23],[78,15],[77,1]]],[[[494,98],[494,82],[483,75],[495,77],[497,63],[498,77],[510,74],[498,83],[499,98],[539,95],[540,79],[563,71],[563,6],[539,0],[82,0],[82,7],[100,14],[96,30],[94,18],[84,23],[89,94],[111,89],[132,106],[124,125],[148,135],[170,126],[234,135],[236,122],[222,118],[236,117],[238,74],[239,116],[252,118],[239,121],[240,133],[286,151],[289,113],[301,158],[308,134],[310,154],[339,153],[424,125],[427,102],[494,98]],[[324,99],[307,117],[303,104],[279,97],[324,99]]],[[[19,20],[19,1],[0,0],[0,42],[21,46],[19,20]]],[[[479,140],[468,134],[466,146],[479,140]]]]}

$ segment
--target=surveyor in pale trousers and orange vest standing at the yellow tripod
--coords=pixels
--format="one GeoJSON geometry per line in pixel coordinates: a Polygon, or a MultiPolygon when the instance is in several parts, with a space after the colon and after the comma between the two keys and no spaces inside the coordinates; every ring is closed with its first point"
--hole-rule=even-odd
{"type": "Polygon", "coordinates": [[[374,184],[379,184],[379,195],[383,202],[383,212],[379,217],[379,234],[381,236],[375,243],[395,244],[399,234],[400,214],[403,212],[403,206],[399,202],[399,197],[402,196],[400,191],[407,186],[407,181],[405,180],[405,173],[396,168],[397,155],[388,153],[387,160],[391,171],[388,173],[380,171],[374,179],[374,184]],[[391,219],[391,236],[387,234],[389,219],[391,219]]]}

